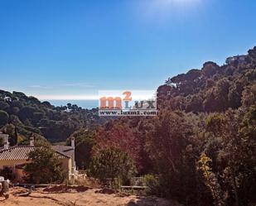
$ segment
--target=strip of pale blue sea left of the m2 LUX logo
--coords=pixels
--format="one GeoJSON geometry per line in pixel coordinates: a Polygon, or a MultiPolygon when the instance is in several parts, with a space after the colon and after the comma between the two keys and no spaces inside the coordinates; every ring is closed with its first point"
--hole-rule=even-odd
{"type": "Polygon", "coordinates": [[[67,103],[76,104],[81,108],[98,108],[99,101],[98,100],[46,100],[54,106],[66,106],[67,103]]]}

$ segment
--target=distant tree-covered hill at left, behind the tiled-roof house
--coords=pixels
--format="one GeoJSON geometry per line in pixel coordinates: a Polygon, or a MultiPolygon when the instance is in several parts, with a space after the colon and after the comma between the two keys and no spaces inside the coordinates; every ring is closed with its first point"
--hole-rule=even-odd
{"type": "Polygon", "coordinates": [[[27,97],[20,92],[0,90],[0,127],[11,136],[11,144],[26,144],[29,137],[65,141],[80,127],[94,127],[104,122],[98,110],[83,109],[68,103],[54,107],[49,102],[27,97]]]}

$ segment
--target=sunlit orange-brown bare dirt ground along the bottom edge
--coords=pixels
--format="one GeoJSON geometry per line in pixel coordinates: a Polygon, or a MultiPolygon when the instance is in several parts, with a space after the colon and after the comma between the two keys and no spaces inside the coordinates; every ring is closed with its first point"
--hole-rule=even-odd
{"type": "Polygon", "coordinates": [[[27,189],[10,189],[10,198],[0,198],[4,206],[178,206],[166,199],[128,194],[111,194],[100,189],[48,188],[36,189],[27,194],[27,189]]]}

